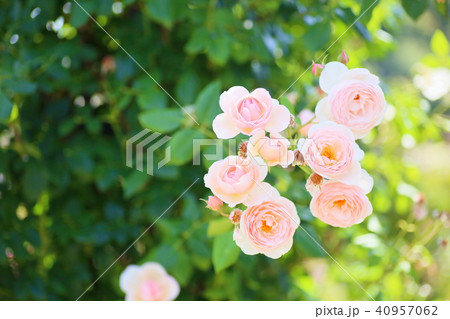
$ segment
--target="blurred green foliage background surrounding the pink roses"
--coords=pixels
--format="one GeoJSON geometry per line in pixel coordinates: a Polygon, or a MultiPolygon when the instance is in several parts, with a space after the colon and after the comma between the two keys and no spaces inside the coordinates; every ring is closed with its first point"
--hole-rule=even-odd
{"type": "Polygon", "coordinates": [[[123,299],[120,273],[146,260],[177,278],[181,300],[368,299],[300,229],[279,260],[242,254],[199,201],[211,163],[191,164],[190,140],[214,137],[221,91],[265,87],[292,112],[313,109],[307,68],[342,50],[389,102],[360,143],[373,215],[333,228],[311,216],[301,170],[269,180],[375,299],[450,298],[447,1],[78,2],[98,25],[72,1],[0,0],[0,299],[78,298],[197,178],[83,299],[123,299]],[[143,128],[172,137],[154,176],[125,166],[143,128]]]}

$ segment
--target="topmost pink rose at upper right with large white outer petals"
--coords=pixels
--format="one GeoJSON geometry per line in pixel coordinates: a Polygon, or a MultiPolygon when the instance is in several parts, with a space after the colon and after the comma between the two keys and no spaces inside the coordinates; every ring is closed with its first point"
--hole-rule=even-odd
{"type": "Polygon", "coordinates": [[[319,122],[334,121],[362,138],[381,123],[386,100],[379,79],[367,69],[351,69],[340,62],[325,65],[319,78],[320,88],[328,97],[319,101],[316,117],[319,122]]]}

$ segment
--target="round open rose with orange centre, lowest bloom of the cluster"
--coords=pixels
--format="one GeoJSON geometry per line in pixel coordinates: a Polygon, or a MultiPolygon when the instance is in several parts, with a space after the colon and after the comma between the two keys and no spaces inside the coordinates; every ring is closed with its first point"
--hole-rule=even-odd
{"type": "Polygon", "coordinates": [[[290,200],[279,195],[267,196],[263,203],[242,213],[233,238],[247,255],[279,258],[291,249],[299,225],[300,218],[290,200]]]}

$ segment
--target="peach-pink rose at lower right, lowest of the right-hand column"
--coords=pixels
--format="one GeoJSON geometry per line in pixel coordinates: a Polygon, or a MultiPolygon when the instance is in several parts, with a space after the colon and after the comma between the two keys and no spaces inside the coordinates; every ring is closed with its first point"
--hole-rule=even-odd
{"type": "Polygon", "coordinates": [[[372,204],[365,191],[354,185],[327,181],[313,195],[310,203],[313,216],[334,227],[361,223],[372,214],[372,204]]]}

